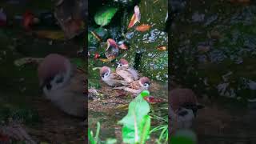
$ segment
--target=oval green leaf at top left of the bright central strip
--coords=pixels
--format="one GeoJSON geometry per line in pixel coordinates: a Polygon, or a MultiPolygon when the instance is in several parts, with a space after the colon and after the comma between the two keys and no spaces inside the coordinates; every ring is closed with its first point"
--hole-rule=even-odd
{"type": "Polygon", "coordinates": [[[102,10],[99,10],[95,15],[94,15],[94,21],[99,25],[99,26],[106,26],[107,24],[110,23],[111,19],[114,17],[114,14],[118,11],[118,8],[116,7],[103,7],[102,10]]]}

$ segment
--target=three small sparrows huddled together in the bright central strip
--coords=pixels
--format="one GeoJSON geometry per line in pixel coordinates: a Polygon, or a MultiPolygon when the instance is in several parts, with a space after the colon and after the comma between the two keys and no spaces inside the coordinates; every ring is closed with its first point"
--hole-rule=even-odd
{"type": "Polygon", "coordinates": [[[117,64],[115,72],[111,71],[108,66],[103,66],[100,70],[102,81],[106,82],[108,86],[113,86],[116,90],[125,90],[133,95],[149,89],[150,79],[139,78],[138,71],[134,70],[126,59],[121,58],[117,64]]]}

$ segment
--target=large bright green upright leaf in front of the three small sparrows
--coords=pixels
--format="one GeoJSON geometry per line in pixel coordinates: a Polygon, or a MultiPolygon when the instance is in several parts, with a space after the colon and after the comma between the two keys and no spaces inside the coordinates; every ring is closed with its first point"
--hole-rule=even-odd
{"type": "Polygon", "coordinates": [[[129,104],[128,114],[118,124],[122,124],[122,141],[143,144],[150,138],[150,106],[143,97],[150,93],[142,91],[129,104]]]}

